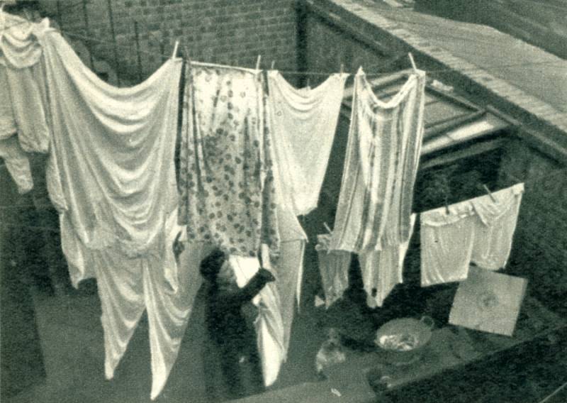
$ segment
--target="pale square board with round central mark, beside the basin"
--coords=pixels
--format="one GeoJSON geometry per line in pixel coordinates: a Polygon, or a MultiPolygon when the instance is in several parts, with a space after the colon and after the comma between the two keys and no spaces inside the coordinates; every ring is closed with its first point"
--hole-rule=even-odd
{"type": "Polygon", "coordinates": [[[526,287],[521,277],[471,266],[455,294],[449,323],[512,336],[526,287]]]}

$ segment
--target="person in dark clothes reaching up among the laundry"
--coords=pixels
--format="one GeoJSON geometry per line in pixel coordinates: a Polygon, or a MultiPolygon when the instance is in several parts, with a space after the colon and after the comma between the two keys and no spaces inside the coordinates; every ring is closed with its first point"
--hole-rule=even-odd
{"type": "Polygon", "coordinates": [[[232,267],[220,250],[201,262],[206,280],[207,329],[203,364],[205,385],[211,402],[237,399],[264,390],[257,350],[254,319],[258,311],[252,299],[267,282],[274,281],[261,268],[248,284],[239,288],[232,267]]]}

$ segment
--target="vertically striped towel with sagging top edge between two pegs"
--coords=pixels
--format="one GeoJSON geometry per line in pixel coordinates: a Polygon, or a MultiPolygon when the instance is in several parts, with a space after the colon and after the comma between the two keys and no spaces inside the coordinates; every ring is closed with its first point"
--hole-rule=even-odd
{"type": "Polygon", "coordinates": [[[383,102],[359,70],[331,249],[355,253],[410,236],[413,185],[423,136],[425,72],[410,73],[383,102]]]}

